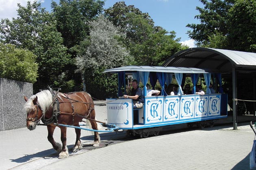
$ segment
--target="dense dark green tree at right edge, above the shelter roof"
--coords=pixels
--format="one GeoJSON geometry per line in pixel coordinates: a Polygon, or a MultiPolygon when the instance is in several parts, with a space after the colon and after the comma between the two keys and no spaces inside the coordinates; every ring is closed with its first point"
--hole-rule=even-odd
{"type": "Polygon", "coordinates": [[[231,49],[256,52],[256,1],[237,0],[229,11],[227,36],[231,49]]]}

